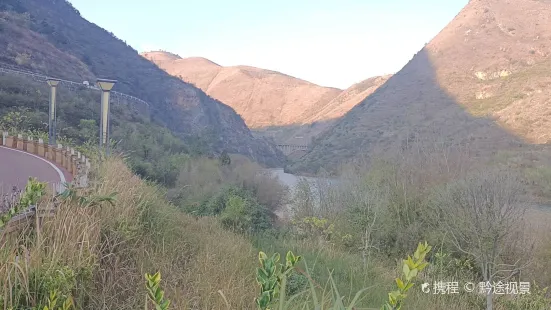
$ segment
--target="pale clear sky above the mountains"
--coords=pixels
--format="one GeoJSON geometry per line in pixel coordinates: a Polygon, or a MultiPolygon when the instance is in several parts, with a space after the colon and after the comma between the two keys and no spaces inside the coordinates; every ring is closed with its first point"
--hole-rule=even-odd
{"type": "Polygon", "coordinates": [[[70,0],[138,52],[279,71],[345,89],[399,71],[468,0],[70,0]]]}

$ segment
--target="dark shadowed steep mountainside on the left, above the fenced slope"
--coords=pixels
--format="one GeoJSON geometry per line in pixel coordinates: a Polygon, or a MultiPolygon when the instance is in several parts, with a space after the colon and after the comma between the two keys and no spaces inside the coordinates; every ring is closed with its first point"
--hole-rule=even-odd
{"type": "Polygon", "coordinates": [[[232,108],[160,70],[66,1],[2,1],[0,46],[6,47],[0,62],[26,70],[77,81],[118,80],[114,90],[151,103],[156,123],[186,141],[202,139],[211,153],[227,150],[272,166],[283,161],[232,108]]]}

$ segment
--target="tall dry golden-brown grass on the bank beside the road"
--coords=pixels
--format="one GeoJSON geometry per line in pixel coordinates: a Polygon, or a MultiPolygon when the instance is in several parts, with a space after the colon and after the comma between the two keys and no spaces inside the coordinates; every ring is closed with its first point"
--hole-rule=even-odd
{"type": "Polygon", "coordinates": [[[114,206],[62,203],[39,232],[27,230],[2,246],[7,306],[44,302],[44,290],[59,289],[44,279],[63,270],[75,274],[69,291],[79,309],[137,309],[145,296],[143,275],[156,271],[174,309],[225,308],[218,290],[232,309],[254,304],[256,255],[243,238],[214,219],[181,213],[119,159],[105,162],[98,175],[91,194],[117,192],[114,206]],[[16,258],[21,251],[26,259],[16,258]]]}

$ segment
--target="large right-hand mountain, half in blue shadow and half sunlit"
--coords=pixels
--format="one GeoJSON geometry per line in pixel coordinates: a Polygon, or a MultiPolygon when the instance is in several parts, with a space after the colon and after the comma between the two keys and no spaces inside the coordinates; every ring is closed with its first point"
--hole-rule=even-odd
{"type": "Polygon", "coordinates": [[[471,0],[290,170],[331,170],[412,141],[468,144],[480,156],[548,142],[549,16],[549,0],[471,0]]]}

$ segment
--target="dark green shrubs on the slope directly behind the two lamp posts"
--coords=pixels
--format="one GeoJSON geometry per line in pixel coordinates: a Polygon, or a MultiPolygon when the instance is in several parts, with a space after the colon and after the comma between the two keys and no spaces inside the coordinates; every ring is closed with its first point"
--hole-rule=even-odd
{"type": "MultiPolygon", "coordinates": [[[[49,91],[46,83],[0,75],[0,129],[47,141],[49,91]]],[[[84,87],[75,91],[59,87],[59,143],[80,145],[81,150],[98,145],[99,96],[84,87]]],[[[129,156],[134,171],[169,186],[176,181],[178,165],[184,158],[209,150],[207,142],[198,138],[184,143],[125,100],[112,102],[111,138],[129,156]]]]}

